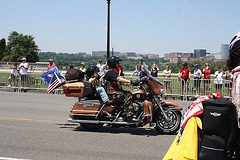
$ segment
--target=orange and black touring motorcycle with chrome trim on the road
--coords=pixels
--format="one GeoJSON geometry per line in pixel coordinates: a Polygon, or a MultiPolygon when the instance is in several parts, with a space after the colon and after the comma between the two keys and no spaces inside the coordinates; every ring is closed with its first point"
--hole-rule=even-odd
{"type": "MultiPolygon", "coordinates": [[[[79,123],[86,130],[97,130],[104,124],[110,127],[142,127],[149,124],[159,133],[175,133],[180,126],[182,107],[174,102],[162,101],[163,84],[151,77],[145,63],[143,65],[146,76],[131,91],[134,118],[140,121],[125,120],[124,102],[104,104],[99,96],[89,98],[91,89],[86,83],[74,82],[64,85],[67,97],[78,97],[70,110],[68,122],[79,123]]],[[[108,94],[111,97],[110,94],[117,93],[108,94]]]]}

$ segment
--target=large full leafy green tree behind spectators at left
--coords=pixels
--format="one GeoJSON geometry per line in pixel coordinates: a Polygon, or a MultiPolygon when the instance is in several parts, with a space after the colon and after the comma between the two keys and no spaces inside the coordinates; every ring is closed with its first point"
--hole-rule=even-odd
{"type": "Polygon", "coordinates": [[[29,62],[39,61],[39,49],[34,38],[31,35],[19,34],[16,31],[11,32],[2,60],[17,62],[26,57],[29,62]]]}

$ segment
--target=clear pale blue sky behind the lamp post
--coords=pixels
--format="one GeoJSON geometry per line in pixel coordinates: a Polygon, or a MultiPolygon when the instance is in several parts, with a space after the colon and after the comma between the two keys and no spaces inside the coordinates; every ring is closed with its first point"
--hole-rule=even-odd
{"type": "MultiPolygon", "coordinates": [[[[41,51],[106,50],[106,0],[0,0],[0,38],[32,35],[41,51]]],[[[240,30],[239,0],[111,0],[111,48],[139,54],[220,52],[240,30]]]]}

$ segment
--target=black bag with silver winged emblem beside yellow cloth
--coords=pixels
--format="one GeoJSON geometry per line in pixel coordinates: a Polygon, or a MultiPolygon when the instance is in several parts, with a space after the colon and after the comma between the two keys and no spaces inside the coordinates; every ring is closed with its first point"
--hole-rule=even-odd
{"type": "Polygon", "coordinates": [[[203,129],[199,139],[199,160],[228,160],[236,152],[237,113],[226,98],[210,98],[202,102],[203,129]]]}

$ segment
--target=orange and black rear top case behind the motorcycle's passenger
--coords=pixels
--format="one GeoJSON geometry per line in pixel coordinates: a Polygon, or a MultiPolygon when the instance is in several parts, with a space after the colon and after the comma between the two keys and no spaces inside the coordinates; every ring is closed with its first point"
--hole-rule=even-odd
{"type": "Polygon", "coordinates": [[[67,97],[89,97],[94,91],[89,82],[73,82],[63,86],[63,92],[67,97]]]}

